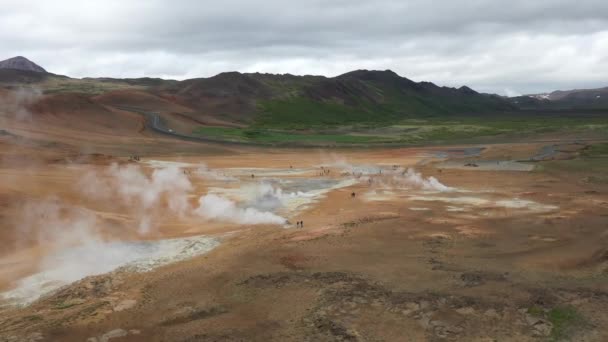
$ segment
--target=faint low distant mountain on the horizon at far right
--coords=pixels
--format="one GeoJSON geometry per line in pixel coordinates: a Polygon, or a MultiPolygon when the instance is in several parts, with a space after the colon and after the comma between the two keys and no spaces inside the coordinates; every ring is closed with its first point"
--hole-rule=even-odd
{"type": "Polygon", "coordinates": [[[512,97],[509,101],[520,109],[608,109],[608,87],[556,90],[512,97]]]}

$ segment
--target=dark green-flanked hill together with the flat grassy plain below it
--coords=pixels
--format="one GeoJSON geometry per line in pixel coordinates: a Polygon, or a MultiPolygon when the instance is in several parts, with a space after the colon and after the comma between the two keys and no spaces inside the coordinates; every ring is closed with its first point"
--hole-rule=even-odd
{"type": "Polygon", "coordinates": [[[220,140],[411,145],[566,131],[608,137],[603,113],[518,112],[497,96],[416,83],[391,71],[358,70],[335,78],[229,73],[198,82],[199,87],[255,103],[253,122],[246,129],[195,129],[220,140]]]}

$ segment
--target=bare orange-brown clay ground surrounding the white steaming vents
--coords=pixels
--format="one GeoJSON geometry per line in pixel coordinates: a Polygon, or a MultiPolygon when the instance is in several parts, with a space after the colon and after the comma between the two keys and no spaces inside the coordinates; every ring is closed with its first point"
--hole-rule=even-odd
{"type": "Polygon", "coordinates": [[[112,127],[104,115],[106,126],[81,133],[49,115],[0,137],[0,341],[608,340],[608,187],[559,169],[442,166],[527,158],[542,143],[486,145],[479,155],[258,149],[157,137],[139,117],[112,127]],[[213,193],[243,209],[270,184],[284,200],[256,210],[288,221],[85,195],[85,176],[111,178],[112,164],[143,177],[179,167],[188,208],[213,193]],[[64,236],[83,231],[70,226],[83,212],[100,250],[64,236]],[[146,232],[136,229],[142,215],[154,221],[146,232]],[[47,262],[58,248],[76,248],[66,262],[81,265],[113,253],[111,243],[201,235],[217,245],[147,272],[90,275],[33,302],[7,297],[61,266],[47,262]]]}

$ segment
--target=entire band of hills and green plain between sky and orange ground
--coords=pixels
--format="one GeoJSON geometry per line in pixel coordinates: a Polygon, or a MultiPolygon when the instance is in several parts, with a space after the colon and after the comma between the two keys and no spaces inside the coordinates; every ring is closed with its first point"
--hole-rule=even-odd
{"type": "Polygon", "coordinates": [[[28,89],[43,94],[29,108],[37,122],[74,141],[116,131],[264,145],[462,142],[605,127],[604,111],[595,109],[608,112],[605,88],[508,98],[391,70],[335,77],[224,72],[177,81],[0,68],[0,95],[28,89]]]}

